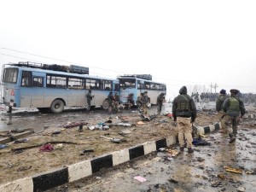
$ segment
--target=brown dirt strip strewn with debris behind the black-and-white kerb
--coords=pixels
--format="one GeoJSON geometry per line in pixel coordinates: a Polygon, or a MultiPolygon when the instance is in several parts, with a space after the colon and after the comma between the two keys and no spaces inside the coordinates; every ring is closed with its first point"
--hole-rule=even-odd
{"type": "MultiPolygon", "coordinates": [[[[156,112],[156,107],[149,110],[149,114],[156,112]]],[[[9,143],[8,148],[0,149],[0,184],[13,181],[22,177],[31,177],[40,172],[47,172],[55,167],[62,167],[74,164],[82,160],[90,160],[101,154],[117,151],[122,148],[129,148],[139,143],[154,141],[160,138],[177,134],[177,127],[171,117],[160,115],[150,121],[143,121],[143,125],[137,125],[142,119],[137,111],[124,110],[122,113],[109,115],[106,112],[94,111],[70,112],[64,115],[52,116],[52,114],[40,114],[52,119],[52,125],[45,126],[45,130],[34,133],[29,137],[27,143],[9,143]],[[118,118],[119,116],[119,118],[118,118]],[[76,118],[74,118],[76,117],[76,118]],[[111,117],[111,119],[109,119],[111,117]],[[123,125],[112,125],[106,131],[93,130],[87,127],[112,120],[114,123],[128,123],[131,127],[123,125]],[[86,122],[83,131],[79,126],[64,128],[67,122],[86,122]],[[123,143],[113,143],[109,138],[125,140],[123,143]],[[54,150],[41,152],[39,148],[44,143],[52,143],[54,150]],[[62,146],[60,145],[62,144],[62,146]],[[26,148],[15,150],[15,148],[26,148]],[[93,152],[84,153],[86,149],[93,149],[93,152]]],[[[218,122],[216,113],[212,110],[201,110],[195,125],[211,125],[218,122]]],[[[111,125],[110,123],[105,123],[111,125]]],[[[41,125],[42,126],[43,122],[41,125]]]]}

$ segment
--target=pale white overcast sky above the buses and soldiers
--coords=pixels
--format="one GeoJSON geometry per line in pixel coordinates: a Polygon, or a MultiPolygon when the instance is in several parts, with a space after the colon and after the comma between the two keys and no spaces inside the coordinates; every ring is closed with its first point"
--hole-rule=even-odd
{"type": "Polygon", "coordinates": [[[116,78],[151,74],[167,98],[256,93],[256,1],[0,0],[0,64],[90,67],[116,78]]]}

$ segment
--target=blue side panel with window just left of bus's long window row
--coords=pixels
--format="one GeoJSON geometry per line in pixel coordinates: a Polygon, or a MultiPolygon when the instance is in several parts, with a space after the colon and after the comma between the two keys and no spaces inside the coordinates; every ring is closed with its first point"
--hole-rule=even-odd
{"type": "Polygon", "coordinates": [[[32,73],[31,107],[44,108],[45,73],[32,73]]]}

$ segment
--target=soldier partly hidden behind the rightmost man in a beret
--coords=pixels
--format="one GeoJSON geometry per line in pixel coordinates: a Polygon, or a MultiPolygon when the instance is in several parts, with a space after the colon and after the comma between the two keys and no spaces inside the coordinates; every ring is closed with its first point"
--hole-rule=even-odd
{"type": "Polygon", "coordinates": [[[225,128],[224,111],[222,109],[222,106],[226,98],[228,98],[226,90],[220,90],[216,99],[216,111],[218,112],[218,119],[220,120],[220,125],[222,128],[225,128]]]}

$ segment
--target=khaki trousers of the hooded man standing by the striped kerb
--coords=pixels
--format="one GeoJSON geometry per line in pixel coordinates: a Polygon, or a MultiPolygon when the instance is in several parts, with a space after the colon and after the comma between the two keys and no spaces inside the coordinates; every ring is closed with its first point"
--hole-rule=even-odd
{"type": "Polygon", "coordinates": [[[184,147],[184,137],[187,140],[187,147],[192,147],[192,124],[191,118],[177,117],[178,142],[180,147],[184,147]]]}

